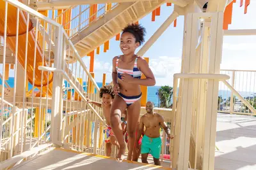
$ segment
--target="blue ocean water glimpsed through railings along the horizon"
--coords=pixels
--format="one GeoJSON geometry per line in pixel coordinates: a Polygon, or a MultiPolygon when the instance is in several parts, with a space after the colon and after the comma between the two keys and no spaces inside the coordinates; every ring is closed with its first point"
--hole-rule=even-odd
{"type": "MultiPolygon", "coordinates": [[[[14,86],[14,78],[10,77],[9,80],[7,80],[8,85],[10,85],[10,87],[13,88],[14,86]]],[[[2,85],[2,80],[0,79],[0,85],[2,85]]],[[[65,81],[65,85],[67,87],[67,81],[65,81]]],[[[83,85],[86,85],[86,83],[84,82],[83,85]]],[[[98,82],[97,85],[99,87],[102,87],[102,83],[98,82]]],[[[107,83],[108,85],[108,83],[107,83]]],[[[29,83],[28,85],[28,89],[32,89],[33,85],[31,85],[29,83]]],[[[161,86],[154,86],[154,87],[148,87],[148,95],[147,95],[147,101],[152,101],[154,103],[155,106],[158,106],[159,104],[159,97],[157,95],[158,89],[160,89],[161,86]]],[[[85,89],[85,87],[84,87],[85,89]]],[[[38,89],[36,89],[38,90],[38,89]]],[[[252,96],[252,94],[250,94],[250,92],[239,92],[243,97],[249,97],[252,96]]],[[[228,97],[230,97],[231,92],[229,90],[219,90],[219,96],[222,97],[222,99],[227,99],[228,97]]]]}

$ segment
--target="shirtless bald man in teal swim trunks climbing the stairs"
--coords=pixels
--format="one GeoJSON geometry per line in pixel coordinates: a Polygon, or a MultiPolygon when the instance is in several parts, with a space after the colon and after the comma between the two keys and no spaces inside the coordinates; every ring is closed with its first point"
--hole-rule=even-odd
{"type": "Polygon", "coordinates": [[[168,138],[173,139],[169,127],[164,122],[164,118],[154,113],[154,104],[150,101],[146,104],[147,113],[140,118],[140,125],[138,129],[136,148],[139,149],[138,141],[140,140],[141,131],[146,127],[145,135],[141,143],[141,161],[148,164],[147,158],[150,153],[154,158],[154,164],[160,166],[160,153],[162,148],[162,139],[160,138],[160,127],[164,129],[168,138]]]}

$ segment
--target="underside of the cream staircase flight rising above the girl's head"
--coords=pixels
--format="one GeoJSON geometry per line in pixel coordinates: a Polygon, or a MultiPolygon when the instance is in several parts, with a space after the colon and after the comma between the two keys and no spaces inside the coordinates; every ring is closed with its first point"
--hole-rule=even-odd
{"type": "Polygon", "coordinates": [[[84,57],[116,34],[122,32],[127,24],[140,20],[164,3],[166,3],[164,0],[139,1],[125,3],[126,5],[130,4],[126,7],[125,4],[123,6],[123,3],[121,3],[113,11],[109,11],[104,17],[93,22],[89,27],[79,32],[77,36],[71,38],[71,41],[76,46],[79,55],[84,57]],[[121,10],[123,11],[120,12],[121,10]]]}

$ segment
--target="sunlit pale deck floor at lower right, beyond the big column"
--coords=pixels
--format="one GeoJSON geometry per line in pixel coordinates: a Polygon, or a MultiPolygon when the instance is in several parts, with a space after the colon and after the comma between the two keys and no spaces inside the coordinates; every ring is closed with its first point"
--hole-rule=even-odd
{"type": "Polygon", "coordinates": [[[256,117],[218,114],[215,169],[256,169],[256,117]]]}

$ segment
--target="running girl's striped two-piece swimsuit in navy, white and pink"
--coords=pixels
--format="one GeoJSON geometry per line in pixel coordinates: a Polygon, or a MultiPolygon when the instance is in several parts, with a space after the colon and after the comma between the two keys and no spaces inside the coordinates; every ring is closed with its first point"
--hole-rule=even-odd
{"type": "MultiPolygon", "coordinates": [[[[142,72],[137,67],[138,57],[136,57],[136,59],[135,59],[133,69],[121,69],[120,67],[118,67],[118,60],[119,59],[120,59],[120,55],[116,59],[116,71],[117,71],[117,77],[118,78],[122,79],[121,74],[124,74],[124,73],[127,73],[127,74],[131,75],[134,78],[139,78],[139,79],[141,78],[142,72]]],[[[122,99],[124,99],[127,107],[130,106],[132,103],[138,101],[138,99],[140,99],[140,97],[141,97],[141,94],[139,94],[138,96],[125,96],[122,93],[118,93],[118,95],[120,97],[122,97],[122,99]]]]}

